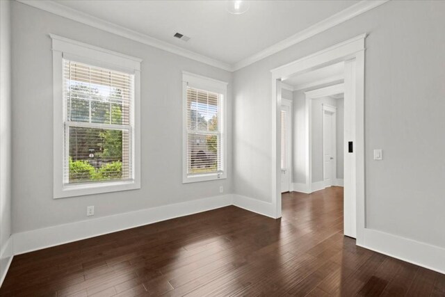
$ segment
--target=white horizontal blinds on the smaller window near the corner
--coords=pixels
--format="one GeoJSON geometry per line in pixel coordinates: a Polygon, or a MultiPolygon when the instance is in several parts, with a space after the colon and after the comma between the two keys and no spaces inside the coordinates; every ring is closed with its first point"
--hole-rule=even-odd
{"type": "Polygon", "coordinates": [[[217,93],[187,87],[187,175],[218,172],[221,166],[221,101],[217,93]]]}

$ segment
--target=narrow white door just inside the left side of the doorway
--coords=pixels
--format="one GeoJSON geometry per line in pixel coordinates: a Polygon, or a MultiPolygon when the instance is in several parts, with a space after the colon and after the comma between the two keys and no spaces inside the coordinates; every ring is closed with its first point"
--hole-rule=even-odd
{"type": "Polygon", "coordinates": [[[281,193],[291,190],[291,104],[281,106],[281,193]]]}

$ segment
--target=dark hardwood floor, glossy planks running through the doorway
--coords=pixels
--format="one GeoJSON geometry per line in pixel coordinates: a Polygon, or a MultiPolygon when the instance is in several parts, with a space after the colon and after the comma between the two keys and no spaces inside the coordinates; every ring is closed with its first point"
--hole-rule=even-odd
{"type": "Polygon", "coordinates": [[[14,257],[1,296],[445,296],[445,275],[344,237],[343,190],[286,193],[14,257]]]}

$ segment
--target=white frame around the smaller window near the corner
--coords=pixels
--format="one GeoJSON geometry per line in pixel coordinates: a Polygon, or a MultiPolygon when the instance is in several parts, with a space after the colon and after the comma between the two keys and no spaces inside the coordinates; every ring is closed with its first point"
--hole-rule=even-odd
{"type": "Polygon", "coordinates": [[[218,81],[201,75],[190,72],[182,72],[182,121],[183,121],[183,135],[182,135],[182,182],[183,184],[191,182],[205,182],[216,179],[227,178],[227,85],[225,81],[218,81]],[[220,158],[221,170],[218,172],[202,173],[200,175],[187,174],[187,87],[197,88],[200,90],[207,90],[209,92],[223,95],[220,102],[220,122],[218,128],[220,129],[220,158]]]}

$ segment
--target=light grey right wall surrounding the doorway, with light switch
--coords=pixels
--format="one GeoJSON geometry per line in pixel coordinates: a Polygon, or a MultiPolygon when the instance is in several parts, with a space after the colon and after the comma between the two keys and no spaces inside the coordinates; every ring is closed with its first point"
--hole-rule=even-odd
{"type": "Polygon", "coordinates": [[[366,227],[445,247],[444,11],[445,1],[389,1],[236,71],[236,193],[270,202],[270,70],[366,32],[366,227]]]}

